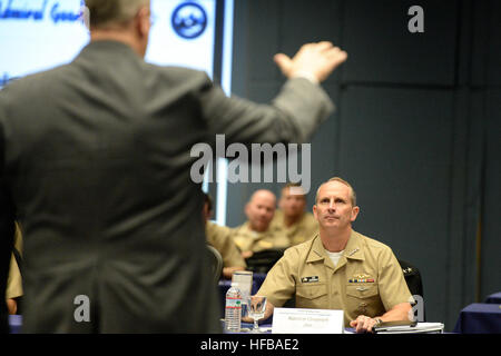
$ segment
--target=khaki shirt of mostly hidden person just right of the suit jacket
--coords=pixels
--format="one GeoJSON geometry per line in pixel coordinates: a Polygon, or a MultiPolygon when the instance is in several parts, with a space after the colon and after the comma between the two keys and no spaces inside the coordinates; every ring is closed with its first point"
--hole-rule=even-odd
{"type": "Polygon", "coordinates": [[[207,221],[205,226],[207,243],[216,248],[223,257],[224,267],[247,267],[232,238],[232,229],[207,221]]]}

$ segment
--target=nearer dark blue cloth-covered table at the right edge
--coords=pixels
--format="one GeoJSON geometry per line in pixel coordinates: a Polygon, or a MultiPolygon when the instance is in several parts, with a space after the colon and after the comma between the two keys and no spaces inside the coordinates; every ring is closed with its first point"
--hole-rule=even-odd
{"type": "Polygon", "coordinates": [[[454,333],[501,334],[501,304],[470,304],[461,310],[454,333]]]}

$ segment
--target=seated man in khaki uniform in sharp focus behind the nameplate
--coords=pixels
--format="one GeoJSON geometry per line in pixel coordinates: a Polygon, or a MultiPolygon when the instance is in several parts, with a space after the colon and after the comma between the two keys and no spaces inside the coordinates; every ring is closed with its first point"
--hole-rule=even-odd
{"type": "Polygon", "coordinates": [[[342,309],[345,326],[372,332],[382,322],[409,319],[412,297],[390,247],[352,229],[360,208],[351,185],[332,178],[317,190],[318,235],[288,248],[257,295],[265,318],[295,296],[297,308],[342,309]]]}

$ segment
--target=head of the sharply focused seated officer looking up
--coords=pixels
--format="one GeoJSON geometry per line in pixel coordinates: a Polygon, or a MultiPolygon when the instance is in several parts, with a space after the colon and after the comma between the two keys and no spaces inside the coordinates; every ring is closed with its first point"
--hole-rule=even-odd
{"type": "Polygon", "coordinates": [[[313,215],[321,228],[346,228],[355,221],[358,210],[358,207],[352,206],[350,187],[341,181],[324,184],[313,206],[313,215]]]}

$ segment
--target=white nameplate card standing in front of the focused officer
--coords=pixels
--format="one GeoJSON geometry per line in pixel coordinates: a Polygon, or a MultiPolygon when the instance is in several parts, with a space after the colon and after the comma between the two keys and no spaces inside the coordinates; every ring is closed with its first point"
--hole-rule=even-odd
{"type": "Polygon", "coordinates": [[[272,334],[343,334],[343,310],[275,308],[272,334]]]}

